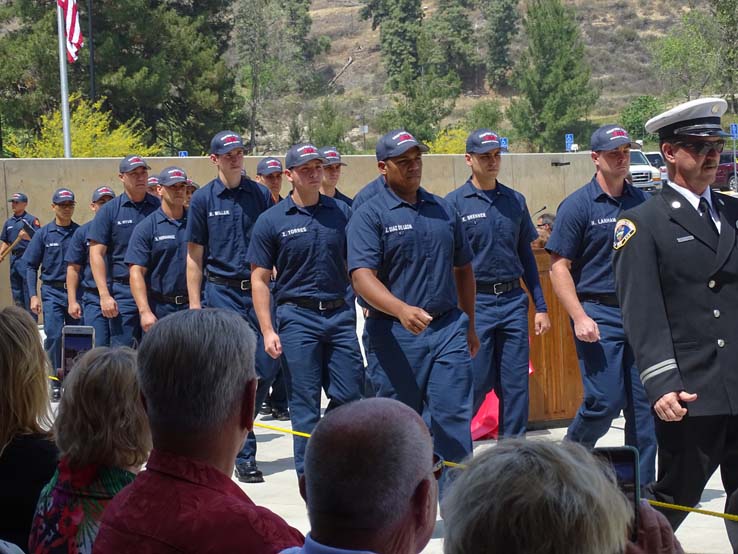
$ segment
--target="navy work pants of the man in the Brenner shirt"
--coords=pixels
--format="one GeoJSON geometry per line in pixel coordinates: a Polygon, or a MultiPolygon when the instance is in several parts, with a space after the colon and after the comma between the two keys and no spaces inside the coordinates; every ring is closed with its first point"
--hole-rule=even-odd
{"type": "Polygon", "coordinates": [[[500,401],[499,436],[525,435],[528,427],[528,295],[477,293],[480,347],[472,358],[474,413],[493,388],[500,401]]]}

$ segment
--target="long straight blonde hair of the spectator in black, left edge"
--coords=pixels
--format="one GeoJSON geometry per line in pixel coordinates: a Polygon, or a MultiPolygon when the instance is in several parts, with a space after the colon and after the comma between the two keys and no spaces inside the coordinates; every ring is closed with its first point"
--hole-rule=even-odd
{"type": "Polygon", "coordinates": [[[49,362],[25,310],[0,310],[0,454],[16,435],[51,428],[49,362]]]}

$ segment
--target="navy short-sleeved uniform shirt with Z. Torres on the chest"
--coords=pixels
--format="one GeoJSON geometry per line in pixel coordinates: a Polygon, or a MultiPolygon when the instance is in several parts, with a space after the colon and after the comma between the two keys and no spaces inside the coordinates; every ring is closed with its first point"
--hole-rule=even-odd
{"type": "Polygon", "coordinates": [[[315,206],[301,207],[288,196],[264,212],[254,225],[248,259],[277,269],[274,298],[335,300],[346,295],[346,224],[351,208],[320,195],[315,206]]]}

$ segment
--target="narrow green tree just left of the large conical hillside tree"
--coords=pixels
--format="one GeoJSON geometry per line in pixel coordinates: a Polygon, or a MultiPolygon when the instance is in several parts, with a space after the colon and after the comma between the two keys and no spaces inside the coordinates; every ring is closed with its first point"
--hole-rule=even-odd
{"type": "Polygon", "coordinates": [[[510,44],[518,34],[518,0],[481,0],[480,4],[485,17],[487,82],[498,88],[508,84],[513,65],[510,44]]]}

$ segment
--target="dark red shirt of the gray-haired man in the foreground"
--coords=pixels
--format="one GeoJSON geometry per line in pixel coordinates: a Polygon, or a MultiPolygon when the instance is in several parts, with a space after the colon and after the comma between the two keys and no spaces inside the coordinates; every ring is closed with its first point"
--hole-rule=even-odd
{"type": "Polygon", "coordinates": [[[105,510],[93,552],[268,554],[303,542],[214,467],[154,450],[105,510]]]}

